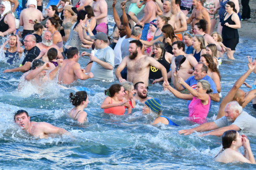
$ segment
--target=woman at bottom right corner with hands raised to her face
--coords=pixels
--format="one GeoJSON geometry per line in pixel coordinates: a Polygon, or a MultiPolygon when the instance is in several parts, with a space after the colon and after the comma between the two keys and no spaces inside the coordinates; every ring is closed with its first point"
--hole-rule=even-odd
{"type": "Polygon", "coordinates": [[[224,163],[240,161],[256,164],[249,139],[245,135],[239,135],[236,130],[227,130],[223,133],[222,149],[214,159],[224,163]],[[239,152],[241,146],[244,147],[244,155],[239,152]]]}

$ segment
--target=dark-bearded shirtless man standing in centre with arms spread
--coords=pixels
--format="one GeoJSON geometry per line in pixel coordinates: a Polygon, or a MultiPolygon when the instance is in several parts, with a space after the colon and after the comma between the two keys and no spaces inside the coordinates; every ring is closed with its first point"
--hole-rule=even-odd
{"type": "Polygon", "coordinates": [[[153,57],[142,54],[142,43],[139,40],[130,41],[129,51],[130,56],[123,58],[120,65],[116,68],[116,77],[119,79],[119,82],[126,81],[122,78],[121,71],[127,66],[128,82],[135,84],[142,81],[148,86],[149,69],[150,66],[153,66],[162,72],[164,82],[168,83],[166,68],[153,57]]]}

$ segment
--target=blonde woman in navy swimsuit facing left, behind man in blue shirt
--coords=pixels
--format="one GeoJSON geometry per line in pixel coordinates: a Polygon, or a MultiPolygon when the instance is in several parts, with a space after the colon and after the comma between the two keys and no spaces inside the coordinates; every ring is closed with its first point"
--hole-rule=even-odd
{"type": "Polygon", "coordinates": [[[198,34],[195,35],[195,37],[193,37],[192,45],[194,48],[193,56],[199,62],[201,55],[206,54],[204,36],[198,34]]]}

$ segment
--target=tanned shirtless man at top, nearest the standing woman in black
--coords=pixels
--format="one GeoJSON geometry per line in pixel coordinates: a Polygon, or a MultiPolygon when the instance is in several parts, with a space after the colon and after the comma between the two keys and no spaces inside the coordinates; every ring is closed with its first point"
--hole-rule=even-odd
{"type": "Polygon", "coordinates": [[[202,0],[193,0],[193,11],[190,17],[186,20],[187,24],[191,23],[191,30],[194,30],[195,23],[198,23],[199,20],[204,19],[207,21],[207,30],[206,33],[210,34],[211,29],[211,20],[209,13],[204,6],[202,6],[202,0]]]}

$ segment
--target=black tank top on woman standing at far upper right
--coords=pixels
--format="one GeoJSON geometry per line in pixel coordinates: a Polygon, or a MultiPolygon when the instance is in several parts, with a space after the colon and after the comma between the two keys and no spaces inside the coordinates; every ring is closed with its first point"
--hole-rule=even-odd
{"type": "MultiPolygon", "coordinates": [[[[225,17],[226,15],[227,14],[225,14],[225,17]]],[[[236,25],[236,23],[231,18],[232,15],[233,14],[231,14],[230,17],[227,18],[227,20],[223,20],[221,22],[221,26],[223,26],[221,34],[222,38],[224,39],[239,38],[238,30],[236,28],[230,28],[224,25],[225,23],[229,23],[230,25],[236,25]]]]}

